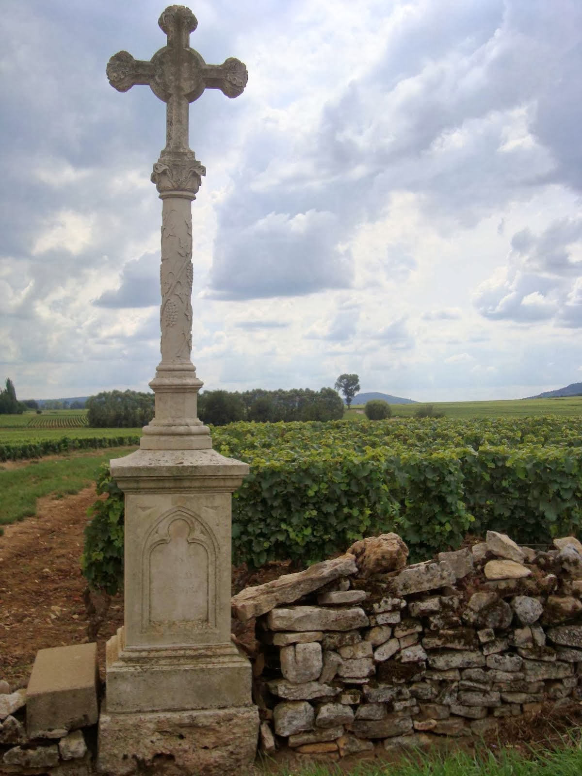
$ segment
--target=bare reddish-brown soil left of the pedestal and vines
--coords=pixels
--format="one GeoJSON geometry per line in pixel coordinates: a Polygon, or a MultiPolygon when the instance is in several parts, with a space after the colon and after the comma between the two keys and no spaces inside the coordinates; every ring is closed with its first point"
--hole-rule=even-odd
{"type": "MultiPolygon", "coordinates": [[[[5,526],[0,536],[0,677],[13,688],[27,684],[37,650],[87,641],[79,557],[93,501],[94,485],[74,496],[40,499],[36,517],[5,526]]],[[[100,653],[122,623],[118,597],[99,633],[100,653]]]]}

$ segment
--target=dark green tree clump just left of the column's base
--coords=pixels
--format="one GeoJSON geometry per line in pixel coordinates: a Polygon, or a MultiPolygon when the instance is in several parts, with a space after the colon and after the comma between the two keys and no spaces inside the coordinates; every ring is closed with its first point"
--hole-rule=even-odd
{"type": "Polygon", "coordinates": [[[92,428],[135,428],[154,417],[154,394],[135,390],[102,391],[86,402],[92,428]]]}

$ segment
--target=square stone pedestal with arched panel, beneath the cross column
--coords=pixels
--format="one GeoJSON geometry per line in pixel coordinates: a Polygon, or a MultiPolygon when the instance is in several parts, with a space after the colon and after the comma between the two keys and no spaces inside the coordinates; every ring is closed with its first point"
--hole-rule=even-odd
{"type": "Polygon", "coordinates": [[[213,449],[140,449],[111,472],[125,492],[125,619],[107,643],[99,771],[171,755],[181,773],[208,760],[200,773],[240,774],[258,711],[230,641],[230,504],[248,466],[213,449]]]}

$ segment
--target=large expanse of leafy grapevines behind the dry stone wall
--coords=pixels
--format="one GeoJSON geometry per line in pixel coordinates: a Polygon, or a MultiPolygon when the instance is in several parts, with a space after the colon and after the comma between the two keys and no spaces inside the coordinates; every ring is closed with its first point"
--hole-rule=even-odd
{"type": "Polygon", "coordinates": [[[394,531],[412,560],[488,528],[544,543],[582,526],[582,418],[234,423],[215,449],[248,462],[233,560],[302,563],[394,531]]]}

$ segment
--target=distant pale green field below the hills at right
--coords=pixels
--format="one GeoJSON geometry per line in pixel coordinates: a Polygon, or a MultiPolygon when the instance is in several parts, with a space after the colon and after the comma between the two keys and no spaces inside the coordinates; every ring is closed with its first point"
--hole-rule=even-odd
{"type": "MultiPolygon", "coordinates": [[[[456,401],[427,402],[432,404],[437,412],[444,412],[445,417],[528,417],[534,415],[561,415],[570,417],[582,415],[582,396],[563,397],[559,399],[508,399],[498,401],[456,401]]],[[[393,417],[413,417],[418,407],[425,404],[390,404],[393,417]]],[[[352,420],[365,420],[365,415],[358,410],[364,409],[363,404],[352,405],[346,410],[344,417],[352,420]]]]}

